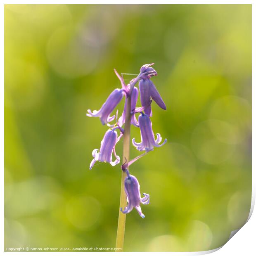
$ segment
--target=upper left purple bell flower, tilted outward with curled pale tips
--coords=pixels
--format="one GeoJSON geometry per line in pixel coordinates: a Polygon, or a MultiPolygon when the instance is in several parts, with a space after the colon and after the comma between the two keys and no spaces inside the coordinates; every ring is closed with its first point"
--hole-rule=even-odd
{"type": "Polygon", "coordinates": [[[123,98],[123,89],[115,89],[107,100],[104,102],[100,110],[93,110],[91,111],[88,109],[88,114],[86,116],[90,117],[100,117],[101,123],[104,125],[114,120],[115,116],[110,116],[114,108],[119,104],[119,102],[123,98]]]}

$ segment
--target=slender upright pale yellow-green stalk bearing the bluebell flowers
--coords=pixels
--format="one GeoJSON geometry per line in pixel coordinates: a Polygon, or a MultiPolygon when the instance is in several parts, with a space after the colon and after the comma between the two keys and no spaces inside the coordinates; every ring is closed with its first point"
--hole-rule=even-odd
{"type": "MultiPolygon", "coordinates": [[[[131,119],[131,107],[130,107],[130,97],[127,98],[126,104],[126,121],[124,126],[124,135],[123,135],[123,164],[130,159],[130,119],[131,119]]],[[[120,208],[126,207],[126,193],[124,191],[124,179],[126,178],[126,173],[122,171],[121,178],[121,195],[120,195],[120,206],[119,206],[119,217],[118,217],[118,226],[116,234],[116,248],[121,248],[123,251],[123,241],[124,241],[124,232],[126,226],[126,214],[123,214],[120,211],[120,208]]]]}

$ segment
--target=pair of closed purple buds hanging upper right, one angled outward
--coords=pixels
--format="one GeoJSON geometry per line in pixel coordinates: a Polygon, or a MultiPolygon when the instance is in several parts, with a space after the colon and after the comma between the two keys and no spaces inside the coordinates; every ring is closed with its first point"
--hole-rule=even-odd
{"type": "Polygon", "coordinates": [[[151,111],[151,98],[156,102],[156,104],[162,109],[166,110],[166,105],[161,98],[158,90],[154,83],[150,79],[143,79],[139,82],[140,89],[140,102],[142,107],[144,107],[145,114],[152,116],[151,111]]]}

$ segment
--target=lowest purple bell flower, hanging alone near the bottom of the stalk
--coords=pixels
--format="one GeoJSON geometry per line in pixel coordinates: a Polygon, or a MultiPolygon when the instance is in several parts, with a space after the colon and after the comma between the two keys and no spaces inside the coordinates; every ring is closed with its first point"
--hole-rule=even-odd
{"type": "Polygon", "coordinates": [[[137,178],[133,175],[130,175],[128,170],[126,170],[127,177],[124,180],[124,190],[127,195],[128,205],[125,209],[121,208],[122,213],[129,213],[133,208],[137,210],[142,218],[145,218],[145,215],[141,211],[140,204],[149,204],[149,194],[143,193],[144,197],[140,197],[140,184],[137,178]]]}

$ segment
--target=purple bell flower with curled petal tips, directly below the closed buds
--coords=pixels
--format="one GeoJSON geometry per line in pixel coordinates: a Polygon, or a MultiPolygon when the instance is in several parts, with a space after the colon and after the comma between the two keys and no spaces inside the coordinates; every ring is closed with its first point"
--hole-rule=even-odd
{"type": "Polygon", "coordinates": [[[140,114],[138,121],[140,126],[141,142],[135,142],[134,138],[132,140],[133,146],[135,146],[137,150],[150,151],[153,150],[154,147],[161,147],[166,143],[167,139],[165,139],[164,142],[159,145],[162,140],[160,133],[156,133],[155,140],[154,132],[152,130],[152,122],[147,114],[140,114]]]}

